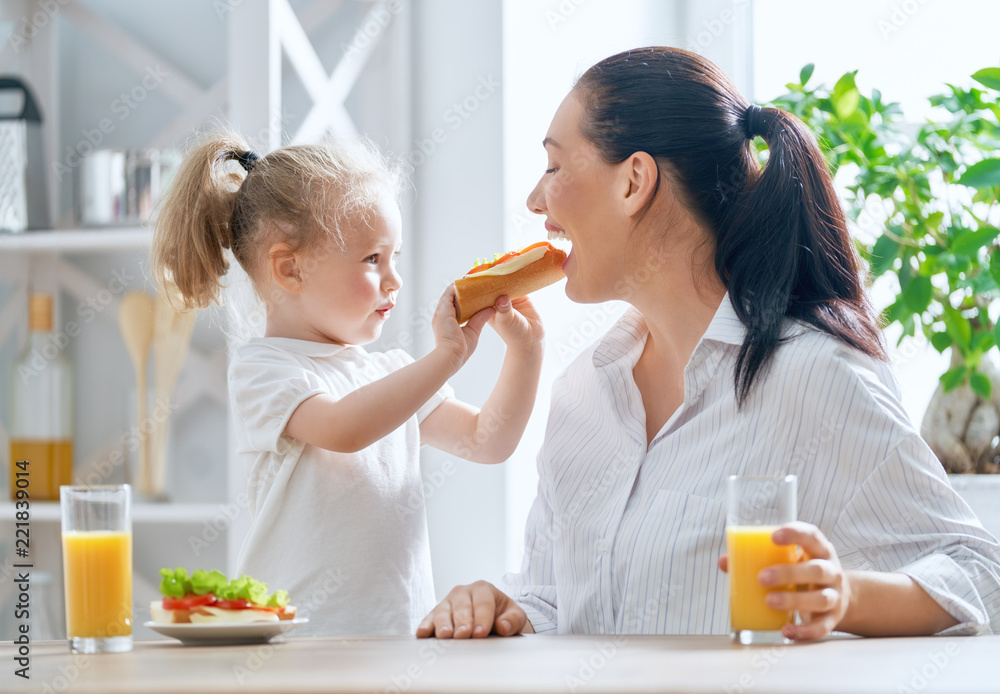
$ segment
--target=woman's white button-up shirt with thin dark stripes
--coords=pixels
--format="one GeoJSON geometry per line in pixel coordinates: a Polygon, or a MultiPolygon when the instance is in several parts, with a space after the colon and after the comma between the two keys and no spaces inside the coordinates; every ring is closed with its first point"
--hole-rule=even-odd
{"type": "Polygon", "coordinates": [[[648,449],[636,310],[559,377],[523,565],[502,583],[536,632],[726,633],[725,480],[794,474],[799,518],[845,569],[911,576],[959,621],[942,633],[1000,633],[1000,547],[910,424],[889,366],[800,324],[786,334],[737,410],[744,328],[724,298],[648,449]]]}

